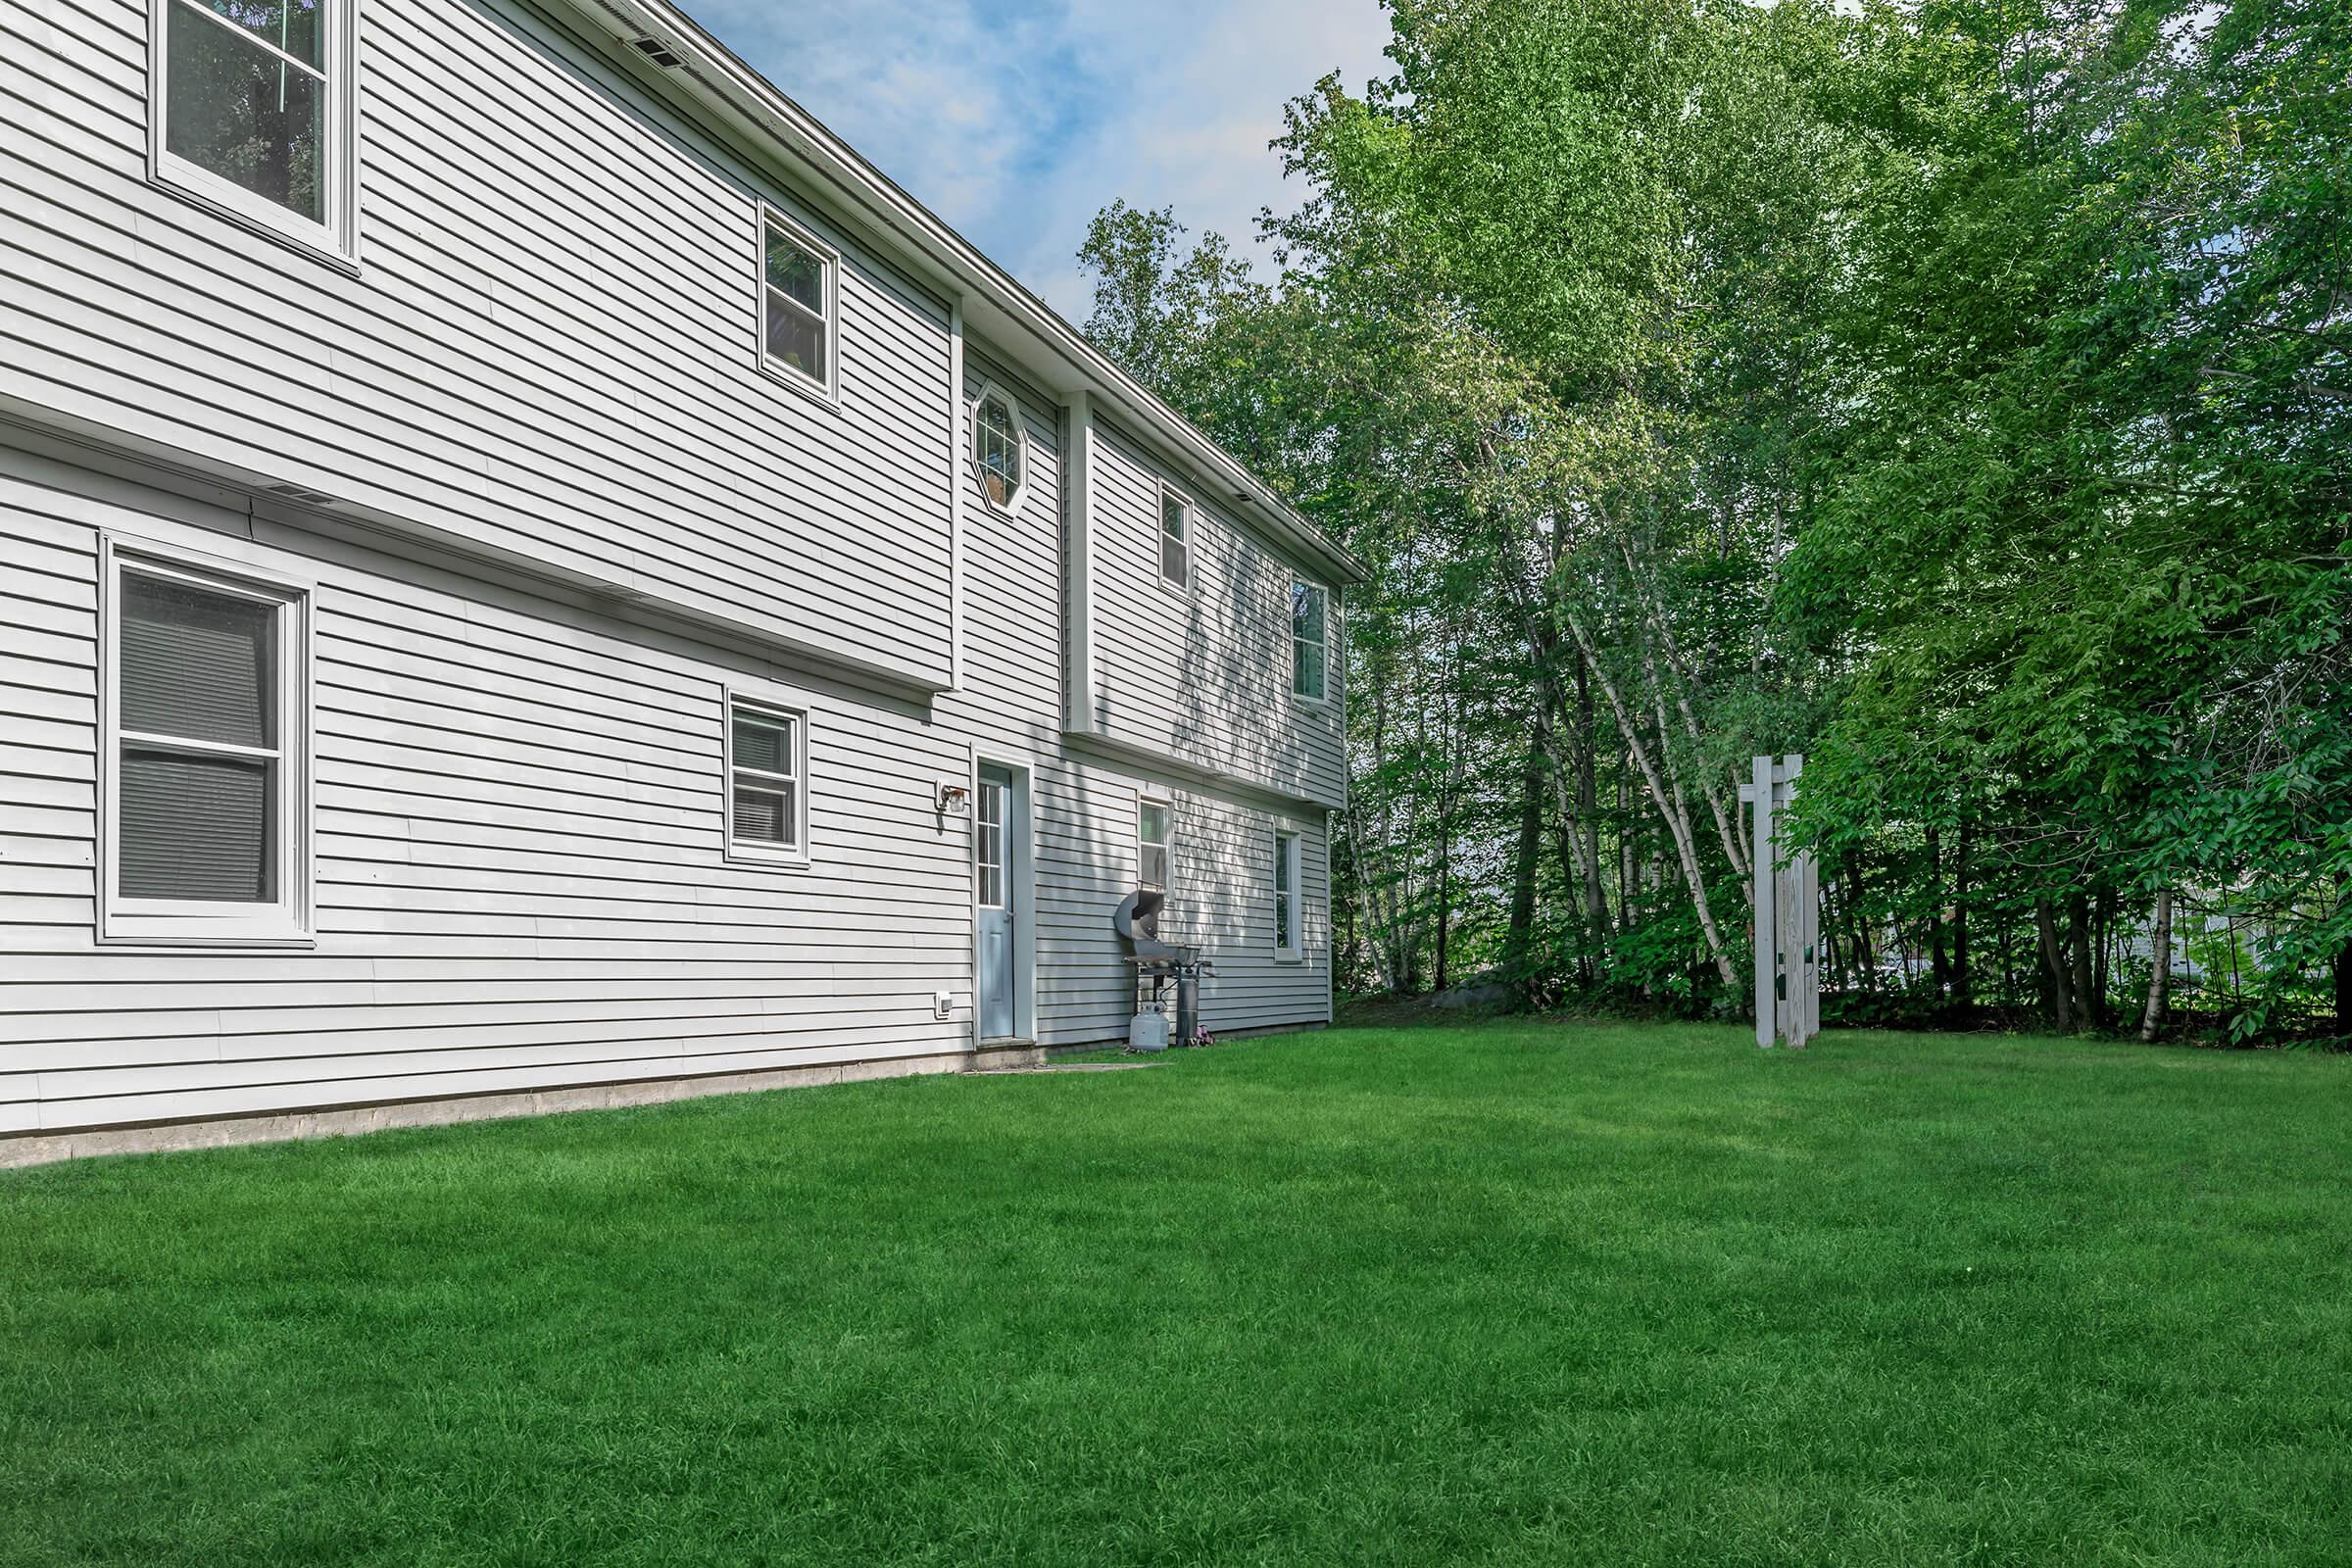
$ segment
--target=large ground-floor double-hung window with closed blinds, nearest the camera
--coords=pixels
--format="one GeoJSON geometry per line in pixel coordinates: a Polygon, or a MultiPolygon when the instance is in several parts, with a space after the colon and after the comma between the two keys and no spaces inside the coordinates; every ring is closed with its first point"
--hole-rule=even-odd
{"type": "Polygon", "coordinates": [[[308,595],[106,550],[101,936],[308,924],[308,595]]]}

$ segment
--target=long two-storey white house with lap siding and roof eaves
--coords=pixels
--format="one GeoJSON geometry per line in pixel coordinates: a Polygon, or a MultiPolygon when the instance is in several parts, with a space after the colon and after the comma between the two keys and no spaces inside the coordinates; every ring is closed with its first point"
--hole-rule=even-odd
{"type": "Polygon", "coordinates": [[[677,9],[0,40],[0,1161],[1329,1018],[1359,564],[677,9]]]}

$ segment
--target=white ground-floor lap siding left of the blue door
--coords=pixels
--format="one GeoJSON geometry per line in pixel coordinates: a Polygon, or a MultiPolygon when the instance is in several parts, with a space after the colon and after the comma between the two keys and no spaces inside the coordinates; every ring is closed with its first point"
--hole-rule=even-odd
{"type": "Polygon", "coordinates": [[[256,548],[61,473],[0,447],[0,1128],[964,1046],[962,745],[920,708],[329,543],[254,557],[318,583],[318,947],[96,945],[92,524],[256,548]],[[724,858],[729,682],[809,708],[804,870],[724,858]]]}

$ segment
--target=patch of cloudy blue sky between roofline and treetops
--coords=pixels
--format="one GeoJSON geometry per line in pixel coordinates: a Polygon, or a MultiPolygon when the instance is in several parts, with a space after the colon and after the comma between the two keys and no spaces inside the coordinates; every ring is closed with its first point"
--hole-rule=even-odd
{"type": "Polygon", "coordinates": [[[1378,0],[684,0],[931,212],[1070,320],[1112,197],[1249,247],[1289,207],[1282,103],[1383,68],[1378,0]]]}

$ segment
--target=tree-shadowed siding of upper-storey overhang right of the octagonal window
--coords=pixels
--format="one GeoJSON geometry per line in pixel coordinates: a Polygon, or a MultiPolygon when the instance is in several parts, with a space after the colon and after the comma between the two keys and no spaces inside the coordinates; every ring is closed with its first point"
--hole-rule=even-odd
{"type": "MultiPolygon", "coordinates": [[[[1291,567],[1195,489],[1192,588],[1162,581],[1160,470],[1117,430],[1096,430],[1096,724],[1117,741],[1336,806],[1341,661],[1329,661],[1331,703],[1291,698],[1291,567]]],[[[1336,654],[1336,614],[1331,632],[1336,654]]]]}

